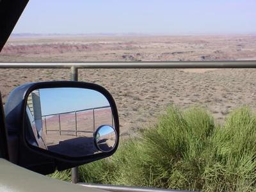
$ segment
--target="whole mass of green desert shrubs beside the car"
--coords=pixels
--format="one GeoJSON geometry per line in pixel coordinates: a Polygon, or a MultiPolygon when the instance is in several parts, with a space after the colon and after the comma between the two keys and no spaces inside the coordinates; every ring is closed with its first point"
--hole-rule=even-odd
{"type": "Polygon", "coordinates": [[[256,118],[249,108],[214,123],[202,108],[170,107],[116,154],[79,168],[81,182],[195,191],[256,191],[256,118]]]}

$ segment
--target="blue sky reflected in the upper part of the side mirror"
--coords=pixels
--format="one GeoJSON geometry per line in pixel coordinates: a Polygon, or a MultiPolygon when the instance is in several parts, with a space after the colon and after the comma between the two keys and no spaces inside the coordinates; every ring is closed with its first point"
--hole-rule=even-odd
{"type": "Polygon", "coordinates": [[[109,106],[106,97],[95,90],[83,88],[45,88],[40,89],[39,92],[42,116],[109,106]]]}

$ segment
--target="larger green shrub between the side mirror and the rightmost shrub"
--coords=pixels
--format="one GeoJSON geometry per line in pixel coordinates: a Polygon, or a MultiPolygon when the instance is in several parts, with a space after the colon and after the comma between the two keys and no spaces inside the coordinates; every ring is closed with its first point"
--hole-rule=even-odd
{"type": "Polygon", "coordinates": [[[168,108],[159,122],[134,143],[133,150],[137,151],[138,158],[130,157],[122,166],[123,174],[118,177],[118,183],[172,189],[202,188],[204,151],[213,131],[214,120],[207,111],[191,108],[182,113],[177,108],[168,108]]]}

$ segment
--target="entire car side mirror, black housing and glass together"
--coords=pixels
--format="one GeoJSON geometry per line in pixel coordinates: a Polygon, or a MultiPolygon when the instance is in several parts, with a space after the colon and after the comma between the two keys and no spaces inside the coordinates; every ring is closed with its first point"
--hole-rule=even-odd
{"type": "Polygon", "coordinates": [[[97,84],[21,85],[5,105],[10,161],[48,174],[111,156],[118,147],[115,101],[97,84]]]}

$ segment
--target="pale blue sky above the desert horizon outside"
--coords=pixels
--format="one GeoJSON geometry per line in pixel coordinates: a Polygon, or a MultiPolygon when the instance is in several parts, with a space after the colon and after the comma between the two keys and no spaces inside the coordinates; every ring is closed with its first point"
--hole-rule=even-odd
{"type": "Polygon", "coordinates": [[[13,33],[256,34],[255,0],[30,0],[13,33]]]}

